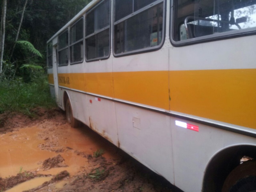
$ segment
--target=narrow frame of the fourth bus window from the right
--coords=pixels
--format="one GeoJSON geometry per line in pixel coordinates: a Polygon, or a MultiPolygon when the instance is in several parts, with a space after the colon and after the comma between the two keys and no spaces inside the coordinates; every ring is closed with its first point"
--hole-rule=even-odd
{"type": "Polygon", "coordinates": [[[78,64],[78,63],[83,63],[84,62],[84,55],[85,55],[85,52],[84,52],[84,50],[85,50],[85,48],[84,48],[84,16],[82,16],[82,17],[80,17],[78,20],[76,20],[75,21],[75,23],[74,24],[72,24],[71,26],[70,26],[70,28],[69,28],[69,35],[68,35],[68,38],[69,38],[69,40],[68,40],[68,51],[69,51],[69,58],[68,58],[68,60],[69,60],[69,63],[70,63],[70,65],[74,65],[74,64],[78,64]],[[74,27],[80,20],[82,20],[82,23],[83,23],[83,36],[82,36],[82,38],[81,39],[79,39],[78,41],[75,41],[74,43],[71,43],[71,28],[72,27],[74,27]],[[81,61],[75,61],[75,62],[71,62],[71,47],[72,46],[74,46],[74,45],[76,45],[76,44],[78,44],[78,43],[80,43],[80,42],[83,42],[83,59],[81,60],[81,61]]]}

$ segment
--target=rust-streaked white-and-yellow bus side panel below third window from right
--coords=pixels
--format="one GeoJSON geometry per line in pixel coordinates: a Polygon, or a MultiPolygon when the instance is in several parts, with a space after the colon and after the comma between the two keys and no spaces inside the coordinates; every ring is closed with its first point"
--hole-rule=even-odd
{"type": "Polygon", "coordinates": [[[86,124],[118,146],[116,113],[113,93],[112,58],[86,62],[86,124]],[[92,95],[90,95],[92,94],[92,95]],[[106,98],[104,98],[106,97],[106,98]]]}

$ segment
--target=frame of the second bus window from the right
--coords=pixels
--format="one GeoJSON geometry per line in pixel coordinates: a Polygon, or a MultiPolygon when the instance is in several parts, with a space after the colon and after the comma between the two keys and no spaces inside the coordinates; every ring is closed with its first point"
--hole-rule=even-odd
{"type": "MultiPolygon", "coordinates": [[[[118,1],[118,0],[117,0],[118,1]]],[[[155,2],[153,3],[150,3],[146,6],[144,6],[143,8],[140,8],[139,10],[137,11],[134,11],[132,12],[131,14],[121,18],[120,20],[117,20],[115,21],[115,2],[116,0],[113,1],[113,25],[112,25],[112,28],[113,28],[113,35],[112,35],[112,48],[113,48],[113,55],[114,57],[122,57],[122,56],[126,56],[126,55],[133,55],[133,54],[139,54],[139,53],[144,53],[144,52],[151,52],[151,51],[157,51],[159,49],[161,49],[164,45],[164,41],[165,41],[165,31],[166,31],[166,0],[156,0],[155,2]],[[137,49],[137,50],[132,50],[132,51],[128,51],[128,52],[122,52],[122,53],[116,53],[115,51],[115,26],[119,23],[122,23],[124,22],[125,20],[129,19],[129,18],[132,18],[133,16],[135,15],[138,15],[146,10],[149,10],[151,7],[154,7],[158,4],[161,4],[163,3],[163,32],[162,32],[162,40],[160,42],[159,45],[156,45],[156,46],[152,46],[152,47],[147,47],[147,48],[142,48],[142,49],[137,49]]]]}

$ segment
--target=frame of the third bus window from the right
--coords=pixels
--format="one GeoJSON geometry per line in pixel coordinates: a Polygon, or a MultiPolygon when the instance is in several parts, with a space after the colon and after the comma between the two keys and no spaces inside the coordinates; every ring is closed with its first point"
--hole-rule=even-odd
{"type": "MultiPolygon", "coordinates": [[[[84,55],[85,55],[85,61],[86,62],[91,62],[91,61],[97,61],[97,60],[106,60],[110,57],[110,52],[111,52],[111,0],[108,0],[109,1],[109,25],[106,26],[106,27],[103,27],[101,29],[98,29],[98,30],[94,30],[93,33],[87,35],[86,34],[86,22],[87,22],[87,15],[90,14],[91,12],[95,11],[97,9],[97,7],[100,6],[100,4],[104,3],[105,1],[107,0],[102,0],[100,1],[99,3],[97,3],[95,6],[93,6],[88,12],[85,13],[85,19],[84,19],[84,55]],[[92,37],[92,36],[95,36],[95,38],[97,37],[98,34],[100,34],[101,32],[105,31],[105,30],[109,30],[109,38],[108,38],[108,41],[109,41],[109,45],[108,45],[108,49],[109,49],[109,52],[108,52],[108,55],[107,56],[103,56],[103,57],[96,57],[96,58],[93,58],[93,59],[87,59],[87,42],[86,42],[86,39],[92,37]]],[[[95,23],[94,23],[95,24],[95,23]]],[[[97,42],[97,39],[95,40],[95,43],[97,42]]],[[[96,46],[97,46],[97,43],[96,43],[96,46]]],[[[95,48],[96,49],[96,48],[95,48]]],[[[97,52],[96,52],[96,56],[97,56],[97,52]]]]}

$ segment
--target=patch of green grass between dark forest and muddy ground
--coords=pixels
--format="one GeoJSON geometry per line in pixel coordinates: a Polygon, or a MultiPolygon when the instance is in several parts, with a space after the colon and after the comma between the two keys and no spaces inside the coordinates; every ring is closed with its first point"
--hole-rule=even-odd
{"type": "Polygon", "coordinates": [[[56,106],[50,95],[46,75],[30,83],[24,83],[19,79],[0,81],[0,98],[0,114],[17,111],[33,116],[32,108],[56,106]]]}

